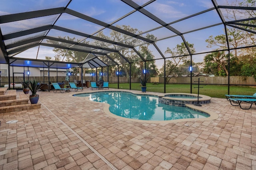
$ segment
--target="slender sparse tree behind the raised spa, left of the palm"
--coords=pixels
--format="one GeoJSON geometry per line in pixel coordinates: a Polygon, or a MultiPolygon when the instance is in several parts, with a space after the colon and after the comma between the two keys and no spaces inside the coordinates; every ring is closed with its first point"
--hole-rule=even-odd
{"type": "MultiPolygon", "coordinates": [[[[191,53],[195,53],[194,44],[188,43],[188,47],[191,51],[191,53]]],[[[170,60],[166,61],[166,82],[169,82],[170,78],[167,79],[169,76],[171,76],[173,73],[178,72],[177,66],[181,63],[186,63],[188,61],[188,50],[186,48],[185,43],[177,44],[175,48],[170,49],[167,47],[167,50],[165,51],[166,54],[170,54],[170,60]],[[179,56],[179,57],[175,57],[179,56]]],[[[160,68],[161,75],[164,74],[164,65],[162,68],[160,68]]]]}

